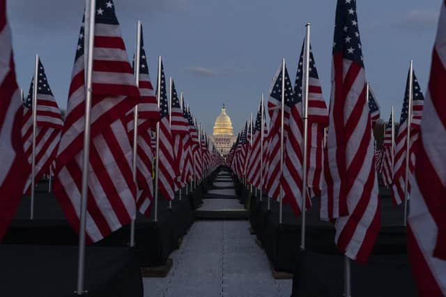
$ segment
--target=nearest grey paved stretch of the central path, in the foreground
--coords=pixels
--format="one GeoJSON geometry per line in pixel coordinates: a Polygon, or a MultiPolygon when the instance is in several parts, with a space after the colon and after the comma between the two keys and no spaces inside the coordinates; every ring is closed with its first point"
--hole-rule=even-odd
{"type": "Polygon", "coordinates": [[[144,297],[275,297],[291,295],[291,280],[271,276],[265,252],[247,221],[197,221],[183,238],[169,275],[144,278],[144,297]]]}

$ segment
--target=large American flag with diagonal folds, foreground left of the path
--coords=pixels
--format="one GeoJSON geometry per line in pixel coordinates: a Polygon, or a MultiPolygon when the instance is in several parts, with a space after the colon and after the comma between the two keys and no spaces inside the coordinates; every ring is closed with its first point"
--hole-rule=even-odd
{"type": "MultiPolygon", "coordinates": [[[[139,100],[113,1],[96,1],[95,22],[91,25],[94,26],[95,43],[86,213],[88,243],[100,241],[135,218],[137,189],[132,178],[132,147],[124,121],[125,114],[139,100]]],[[[77,231],[84,170],[84,63],[82,25],[54,179],[54,193],[72,228],[77,231]]]]}

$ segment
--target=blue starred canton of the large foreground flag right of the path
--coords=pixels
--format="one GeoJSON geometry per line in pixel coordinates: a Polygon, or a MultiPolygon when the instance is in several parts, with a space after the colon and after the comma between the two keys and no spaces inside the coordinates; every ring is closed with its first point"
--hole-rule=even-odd
{"type": "Polygon", "coordinates": [[[364,67],[360,32],[357,26],[356,0],[338,0],[333,54],[342,52],[344,59],[349,59],[364,67]]]}

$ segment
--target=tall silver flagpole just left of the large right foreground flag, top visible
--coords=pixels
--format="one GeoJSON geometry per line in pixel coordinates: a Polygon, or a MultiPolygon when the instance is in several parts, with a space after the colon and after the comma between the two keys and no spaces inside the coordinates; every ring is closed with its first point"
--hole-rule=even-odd
{"type": "Polygon", "coordinates": [[[307,36],[305,37],[305,50],[304,50],[304,77],[303,88],[304,102],[303,102],[303,121],[304,121],[304,147],[303,147],[303,166],[302,166],[302,224],[300,231],[300,250],[305,250],[305,223],[306,223],[306,208],[307,208],[307,146],[308,146],[308,80],[309,80],[309,57],[310,57],[310,24],[305,25],[307,27],[307,36]]]}

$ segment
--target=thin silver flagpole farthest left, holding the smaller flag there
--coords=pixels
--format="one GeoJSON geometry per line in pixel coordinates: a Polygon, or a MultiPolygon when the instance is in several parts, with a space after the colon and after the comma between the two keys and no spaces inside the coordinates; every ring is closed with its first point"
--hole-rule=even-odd
{"type": "Polygon", "coordinates": [[[37,84],[39,75],[39,55],[36,54],[36,65],[34,66],[34,79],[33,79],[33,106],[31,110],[33,112],[33,151],[31,153],[31,211],[29,218],[34,219],[34,193],[36,192],[36,134],[37,134],[37,84]]]}

